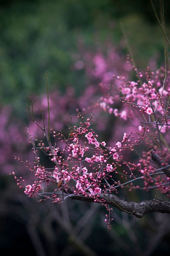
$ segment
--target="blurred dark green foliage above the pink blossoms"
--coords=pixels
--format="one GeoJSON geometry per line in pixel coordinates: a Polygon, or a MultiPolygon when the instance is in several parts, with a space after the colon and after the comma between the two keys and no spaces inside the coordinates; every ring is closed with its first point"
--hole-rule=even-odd
{"type": "MultiPolygon", "coordinates": [[[[159,14],[159,1],[154,4],[159,14]]],[[[84,72],[72,69],[78,40],[91,51],[110,40],[128,54],[120,22],[138,68],[152,58],[163,62],[162,31],[148,0],[1,1],[0,7],[0,102],[21,118],[28,96],[45,93],[45,71],[51,91],[72,85],[79,94],[87,85],[84,72]]],[[[168,13],[165,1],[167,31],[168,13]]]]}

